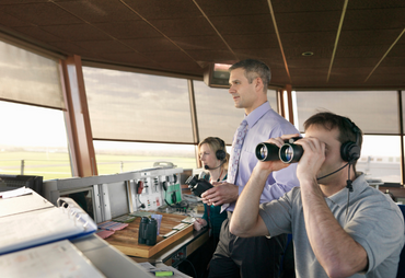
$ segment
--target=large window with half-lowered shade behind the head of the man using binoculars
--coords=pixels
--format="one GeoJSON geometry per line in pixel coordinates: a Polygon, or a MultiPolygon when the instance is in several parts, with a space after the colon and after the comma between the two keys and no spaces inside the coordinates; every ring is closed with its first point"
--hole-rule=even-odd
{"type": "Polygon", "coordinates": [[[324,111],[351,118],[366,134],[357,170],[369,179],[400,183],[397,100],[396,91],[297,92],[298,126],[303,131],[303,123],[324,111]]]}

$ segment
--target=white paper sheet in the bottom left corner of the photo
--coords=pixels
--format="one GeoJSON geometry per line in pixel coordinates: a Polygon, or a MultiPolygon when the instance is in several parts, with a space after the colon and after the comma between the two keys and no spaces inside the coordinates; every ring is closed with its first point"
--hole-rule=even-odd
{"type": "Polygon", "coordinates": [[[1,277],[105,277],[69,241],[60,241],[1,256],[1,277]]]}

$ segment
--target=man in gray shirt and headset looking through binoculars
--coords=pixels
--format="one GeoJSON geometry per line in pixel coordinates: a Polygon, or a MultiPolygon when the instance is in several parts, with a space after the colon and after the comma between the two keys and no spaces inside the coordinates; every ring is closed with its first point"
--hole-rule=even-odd
{"type": "MultiPolygon", "coordinates": [[[[304,128],[305,138],[293,142],[302,147],[300,187],[259,205],[267,176],[290,165],[277,158],[259,161],[239,197],[230,231],[241,238],[292,233],[297,277],[396,277],[404,219],[391,198],[356,173],[361,130],[332,113],[313,115],[304,128]]],[[[294,136],[267,143],[280,148],[280,155],[285,140],[294,136]]]]}

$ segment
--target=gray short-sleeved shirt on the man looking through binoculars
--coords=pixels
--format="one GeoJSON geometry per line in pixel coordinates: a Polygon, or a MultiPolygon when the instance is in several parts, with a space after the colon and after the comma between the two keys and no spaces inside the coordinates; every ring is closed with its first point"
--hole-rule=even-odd
{"type": "MultiPolygon", "coordinates": [[[[369,186],[363,175],[355,179],[352,188],[347,217],[348,189],[325,198],[340,227],[367,252],[366,274],[351,277],[394,278],[405,240],[403,215],[391,198],[369,186]]],[[[300,187],[262,204],[259,215],[270,235],[292,233],[297,277],[327,277],[308,240],[300,187]]]]}

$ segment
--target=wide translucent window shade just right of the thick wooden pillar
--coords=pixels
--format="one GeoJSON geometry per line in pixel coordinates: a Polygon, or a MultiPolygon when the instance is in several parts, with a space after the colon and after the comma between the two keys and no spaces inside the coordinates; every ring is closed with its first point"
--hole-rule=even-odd
{"type": "Polygon", "coordinates": [[[193,143],[187,80],[83,67],[93,138],[193,143]]]}

